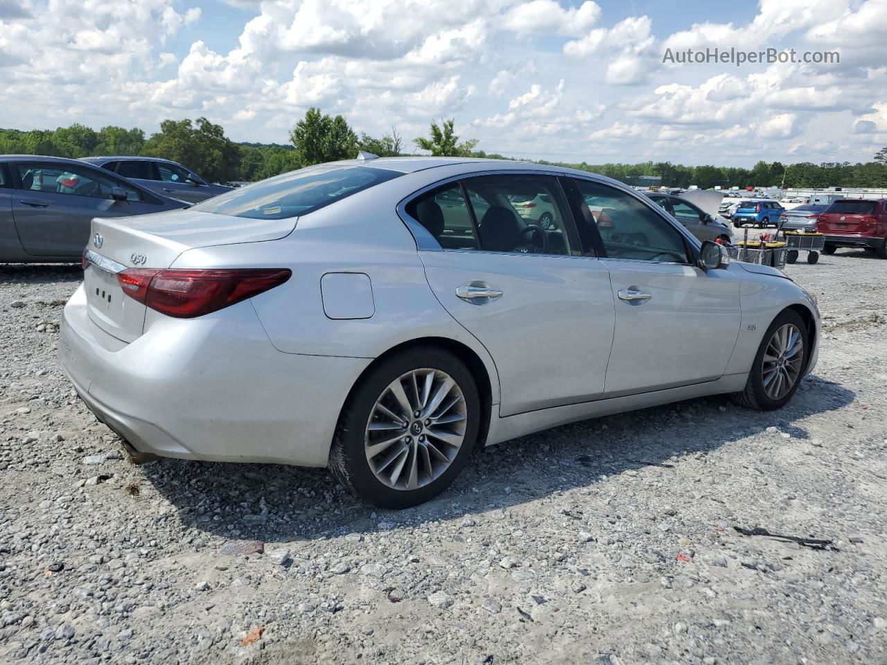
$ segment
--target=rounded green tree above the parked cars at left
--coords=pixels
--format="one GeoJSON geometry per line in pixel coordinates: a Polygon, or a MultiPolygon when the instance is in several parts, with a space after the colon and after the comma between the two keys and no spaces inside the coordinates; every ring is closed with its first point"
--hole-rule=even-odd
{"type": "Polygon", "coordinates": [[[161,122],[161,130],[145,142],[142,154],[177,161],[207,180],[227,183],[237,177],[240,149],[225,137],[221,125],[198,118],[161,122]]]}

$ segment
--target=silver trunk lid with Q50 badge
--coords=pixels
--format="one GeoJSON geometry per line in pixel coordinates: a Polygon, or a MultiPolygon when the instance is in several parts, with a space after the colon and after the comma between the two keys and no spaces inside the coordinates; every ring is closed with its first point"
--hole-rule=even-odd
{"type": "Polygon", "coordinates": [[[285,238],[295,223],[295,217],[246,219],[187,209],[93,219],[86,246],[90,264],[83,272],[90,318],[119,340],[136,340],[145,327],[147,308],[123,293],[117,273],[169,268],[179,254],[196,247],[285,238]]]}

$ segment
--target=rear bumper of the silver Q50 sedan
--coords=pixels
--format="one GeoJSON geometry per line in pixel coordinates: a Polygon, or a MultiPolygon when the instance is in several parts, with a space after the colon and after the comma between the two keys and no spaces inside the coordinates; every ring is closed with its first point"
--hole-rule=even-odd
{"type": "Polygon", "coordinates": [[[99,420],[152,456],[326,466],[336,421],[367,358],[300,356],[271,346],[252,303],[163,317],[126,344],[65,307],[62,367],[99,420]]]}

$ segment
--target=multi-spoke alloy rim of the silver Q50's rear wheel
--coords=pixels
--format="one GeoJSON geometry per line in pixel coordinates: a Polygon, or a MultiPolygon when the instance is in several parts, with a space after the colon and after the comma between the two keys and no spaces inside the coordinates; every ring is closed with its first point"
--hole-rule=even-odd
{"type": "Polygon", "coordinates": [[[435,481],[459,453],[467,425],[462,390],[440,370],[423,368],[389,383],[366,425],[366,461],[391,489],[417,489],[435,481]]]}

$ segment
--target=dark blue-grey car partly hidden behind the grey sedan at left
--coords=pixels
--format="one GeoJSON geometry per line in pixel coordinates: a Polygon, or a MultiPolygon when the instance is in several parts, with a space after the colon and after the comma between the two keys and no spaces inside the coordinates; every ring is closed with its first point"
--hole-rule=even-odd
{"type": "Polygon", "coordinates": [[[152,192],[186,203],[198,203],[232,190],[224,184],[208,183],[191,169],[159,157],[83,157],[82,160],[114,171],[152,192]]]}

